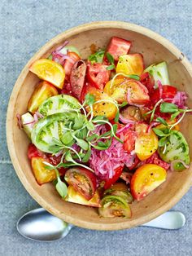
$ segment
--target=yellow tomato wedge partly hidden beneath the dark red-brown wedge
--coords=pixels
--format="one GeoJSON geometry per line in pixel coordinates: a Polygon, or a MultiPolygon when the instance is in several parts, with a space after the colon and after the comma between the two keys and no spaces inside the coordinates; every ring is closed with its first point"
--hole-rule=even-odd
{"type": "Polygon", "coordinates": [[[88,201],[84,196],[81,196],[80,192],[77,192],[72,186],[68,186],[68,196],[65,198],[65,201],[80,205],[88,205],[92,207],[100,207],[100,196],[98,191],[94,193],[94,196],[88,201]]]}

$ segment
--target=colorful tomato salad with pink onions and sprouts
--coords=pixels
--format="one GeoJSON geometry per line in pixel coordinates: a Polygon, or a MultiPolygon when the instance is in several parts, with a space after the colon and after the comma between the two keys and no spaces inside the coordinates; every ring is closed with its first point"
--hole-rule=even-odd
{"type": "Polygon", "coordinates": [[[37,183],[107,218],[131,218],[133,201],[190,165],[180,131],[187,95],[170,84],[165,61],[145,68],[131,45],[113,37],[83,60],[64,42],[30,66],[41,81],[17,115],[37,183]]]}

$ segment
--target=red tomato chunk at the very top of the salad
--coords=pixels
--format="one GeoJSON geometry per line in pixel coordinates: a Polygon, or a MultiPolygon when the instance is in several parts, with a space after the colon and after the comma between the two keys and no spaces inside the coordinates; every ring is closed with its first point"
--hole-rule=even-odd
{"type": "Polygon", "coordinates": [[[130,47],[130,41],[113,37],[107,46],[106,52],[109,52],[113,56],[114,60],[117,61],[119,60],[120,55],[126,55],[129,53],[130,47]]]}

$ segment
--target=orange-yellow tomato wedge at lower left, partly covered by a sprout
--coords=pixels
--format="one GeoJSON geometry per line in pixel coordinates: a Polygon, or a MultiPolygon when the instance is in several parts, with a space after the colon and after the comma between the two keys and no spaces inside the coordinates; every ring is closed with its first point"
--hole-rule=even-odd
{"type": "Polygon", "coordinates": [[[43,157],[32,157],[31,159],[33,174],[39,185],[56,179],[55,170],[47,170],[43,161],[48,160],[43,157]]]}

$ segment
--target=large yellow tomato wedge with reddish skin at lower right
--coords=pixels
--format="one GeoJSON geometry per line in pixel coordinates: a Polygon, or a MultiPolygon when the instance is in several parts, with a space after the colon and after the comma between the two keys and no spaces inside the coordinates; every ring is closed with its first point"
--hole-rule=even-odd
{"type": "Polygon", "coordinates": [[[167,172],[160,166],[154,164],[141,166],[131,179],[131,193],[137,201],[141,201],[143,197],[164,183],[166,178],[167,172]]]}

